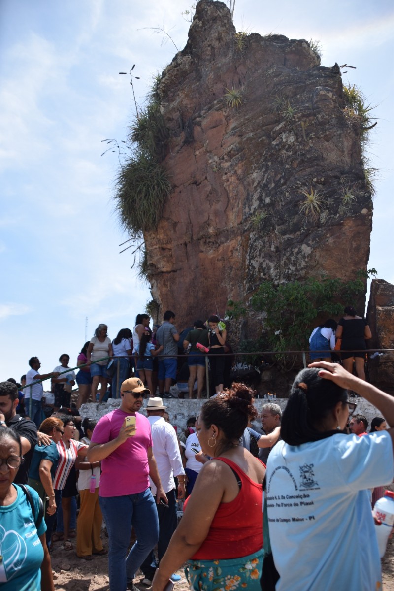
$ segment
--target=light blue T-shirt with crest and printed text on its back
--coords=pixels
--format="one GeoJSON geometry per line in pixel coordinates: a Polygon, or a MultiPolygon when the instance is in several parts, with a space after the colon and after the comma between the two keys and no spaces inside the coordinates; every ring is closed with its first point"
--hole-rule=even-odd
{"type": "Polygon", "coordinates": [[[279,441],[266,472],[269,537],[280,576],[276,591],[381,589],[367,489],[392,479],[386,431],[338,433],[297,447],[279,441]]]}

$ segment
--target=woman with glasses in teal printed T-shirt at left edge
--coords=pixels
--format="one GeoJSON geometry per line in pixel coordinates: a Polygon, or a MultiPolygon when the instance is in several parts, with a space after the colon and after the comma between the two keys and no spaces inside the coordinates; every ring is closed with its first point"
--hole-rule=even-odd
{"type": "Polygon", "coordinates": [[[0,425],[0,587],[1,591],[54,591],[51,558],[37,493],[28,487],[34,506],[13,480],[23,462],[21,439],[0,425]]]}

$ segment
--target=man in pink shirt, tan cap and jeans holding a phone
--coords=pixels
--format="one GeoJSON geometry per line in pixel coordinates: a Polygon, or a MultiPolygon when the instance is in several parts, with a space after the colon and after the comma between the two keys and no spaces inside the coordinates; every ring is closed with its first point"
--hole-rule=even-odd
{"type": "Polygon", "coordinates": [[[168,503],[152,453],[149,421],[138,412],[145,392],[150,394],[139,378],[122,383],[121,406],[100,418],[87,452],[90,463],[101,460],[99,502],[109,535],[110,591],[138,591],[133,583],[136,570],[157,544],[159,524],[149,476],[157,487],[156,502],[168,503]],[[135,417],[135,427],[126,424],[126,417],[135,417]],[[132,526],[137,540],[126,557],[132,526]]]}

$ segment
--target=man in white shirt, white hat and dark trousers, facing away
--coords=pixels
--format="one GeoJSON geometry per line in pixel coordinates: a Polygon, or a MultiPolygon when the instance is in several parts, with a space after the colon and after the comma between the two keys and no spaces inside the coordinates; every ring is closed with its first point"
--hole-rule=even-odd
{"type": "MultiPolygon", "coordinates": [[[[171,536],[178,525],[177,516],[177,495],[175,490],[174,475],[178,479],[178,499],[185,496],[185,470],[182,465],[181,454],[178,446],[177,434],[174,427],[164,419],[166,407],[163,406],[161,398],[149,398],[146,406],[146,414],[151,424],[153,448],[160,475],[162,487],[168,498],[168,505],[156,505],[159,517],[159,541],[157,544],[158,561],[164,556],[170,543],[171,536]]],[[[152,494],[156,494],[156,487],[152,480],[152,494]]],[[[144,573],[142,583],[151,585],[158,563],[155,560],[153,551],[148,555],[141,566],[144,573]]],[[[181,577],[173,574],[172,581],[178,582],[181,577]]]]}

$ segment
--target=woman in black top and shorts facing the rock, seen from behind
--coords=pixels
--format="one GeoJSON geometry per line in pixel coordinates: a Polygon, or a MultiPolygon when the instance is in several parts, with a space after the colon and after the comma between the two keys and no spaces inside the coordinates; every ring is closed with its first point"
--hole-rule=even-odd
{"type": "Polygon", "coordinates": [[[336,330],[337,339],[342,339],[341,359],[343,366],[352,374],[354,359],[357,376],[360,379],[365,379],[365,341],[372,337],[372,333],[365,319],[357,316],[356,310],[352,306],[347,306],[344,312],[344,316],[338,322],[336,330]]]}

